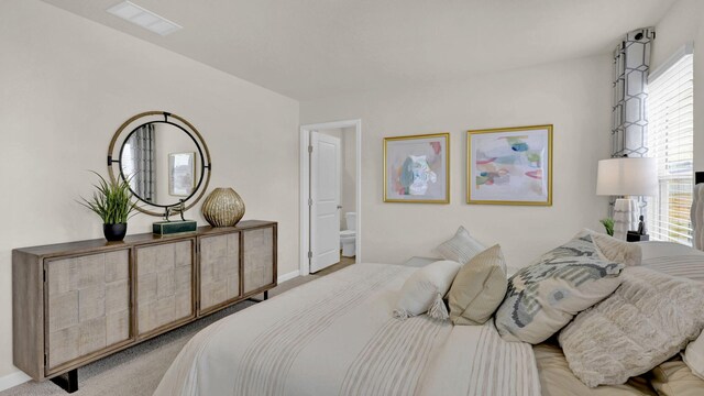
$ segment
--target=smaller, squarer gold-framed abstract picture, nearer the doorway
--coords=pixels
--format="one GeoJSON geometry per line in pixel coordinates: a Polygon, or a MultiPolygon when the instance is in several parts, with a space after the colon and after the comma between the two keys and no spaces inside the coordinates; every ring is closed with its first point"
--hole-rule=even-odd
{"type": "Polygon", "coordinates": [[[384,202],[450,204],[450,133],[384,138],[384,202]]]}

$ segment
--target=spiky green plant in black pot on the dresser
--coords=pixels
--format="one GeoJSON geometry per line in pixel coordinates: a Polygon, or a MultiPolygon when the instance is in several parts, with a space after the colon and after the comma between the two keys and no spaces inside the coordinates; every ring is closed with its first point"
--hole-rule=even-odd
{"type": "MultiPolygon", "coordinates": [[[[91,170],[92,172],[92,170],[91,170]]],[[[136,204],[132,202],[132,191],[127,180],[106,180],[94,172],[100,182],[94,185],[97,189],[91,199],[82,199],[78,204],[92,210],[102,219],[102,232],[108,241],[122,241],[128,232],[128,219],[132,216],[136,204]]]]}

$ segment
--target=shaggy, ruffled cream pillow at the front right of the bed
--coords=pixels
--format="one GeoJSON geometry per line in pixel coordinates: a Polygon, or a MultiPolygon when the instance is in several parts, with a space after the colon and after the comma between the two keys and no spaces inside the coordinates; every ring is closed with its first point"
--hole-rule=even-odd
{"type": "Polygon", "coordinates": [[[625,383],[675,355],[704,327],[704,284],[646,267],[562,330],[572,372],[590,387],[625,383]]]}

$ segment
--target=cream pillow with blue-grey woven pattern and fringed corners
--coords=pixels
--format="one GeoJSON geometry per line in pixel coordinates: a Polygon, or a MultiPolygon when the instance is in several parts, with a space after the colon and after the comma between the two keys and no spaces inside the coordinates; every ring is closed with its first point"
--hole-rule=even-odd
{"type": "Polygon", "coordinates": [[[590,234],[578,234],[510,277],[496,328],[506,341],[542,342],[614,293],[624,267],[600,258],[590,234]]]}

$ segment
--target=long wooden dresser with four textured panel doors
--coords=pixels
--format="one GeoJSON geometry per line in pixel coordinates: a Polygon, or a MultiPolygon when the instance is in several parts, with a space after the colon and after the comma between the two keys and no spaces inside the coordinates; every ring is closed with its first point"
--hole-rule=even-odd
{"type": "Polygon", "coordinates": [[[14,365],[42,381],[276,286],[277,223],[12,251],[14,365]]]}

